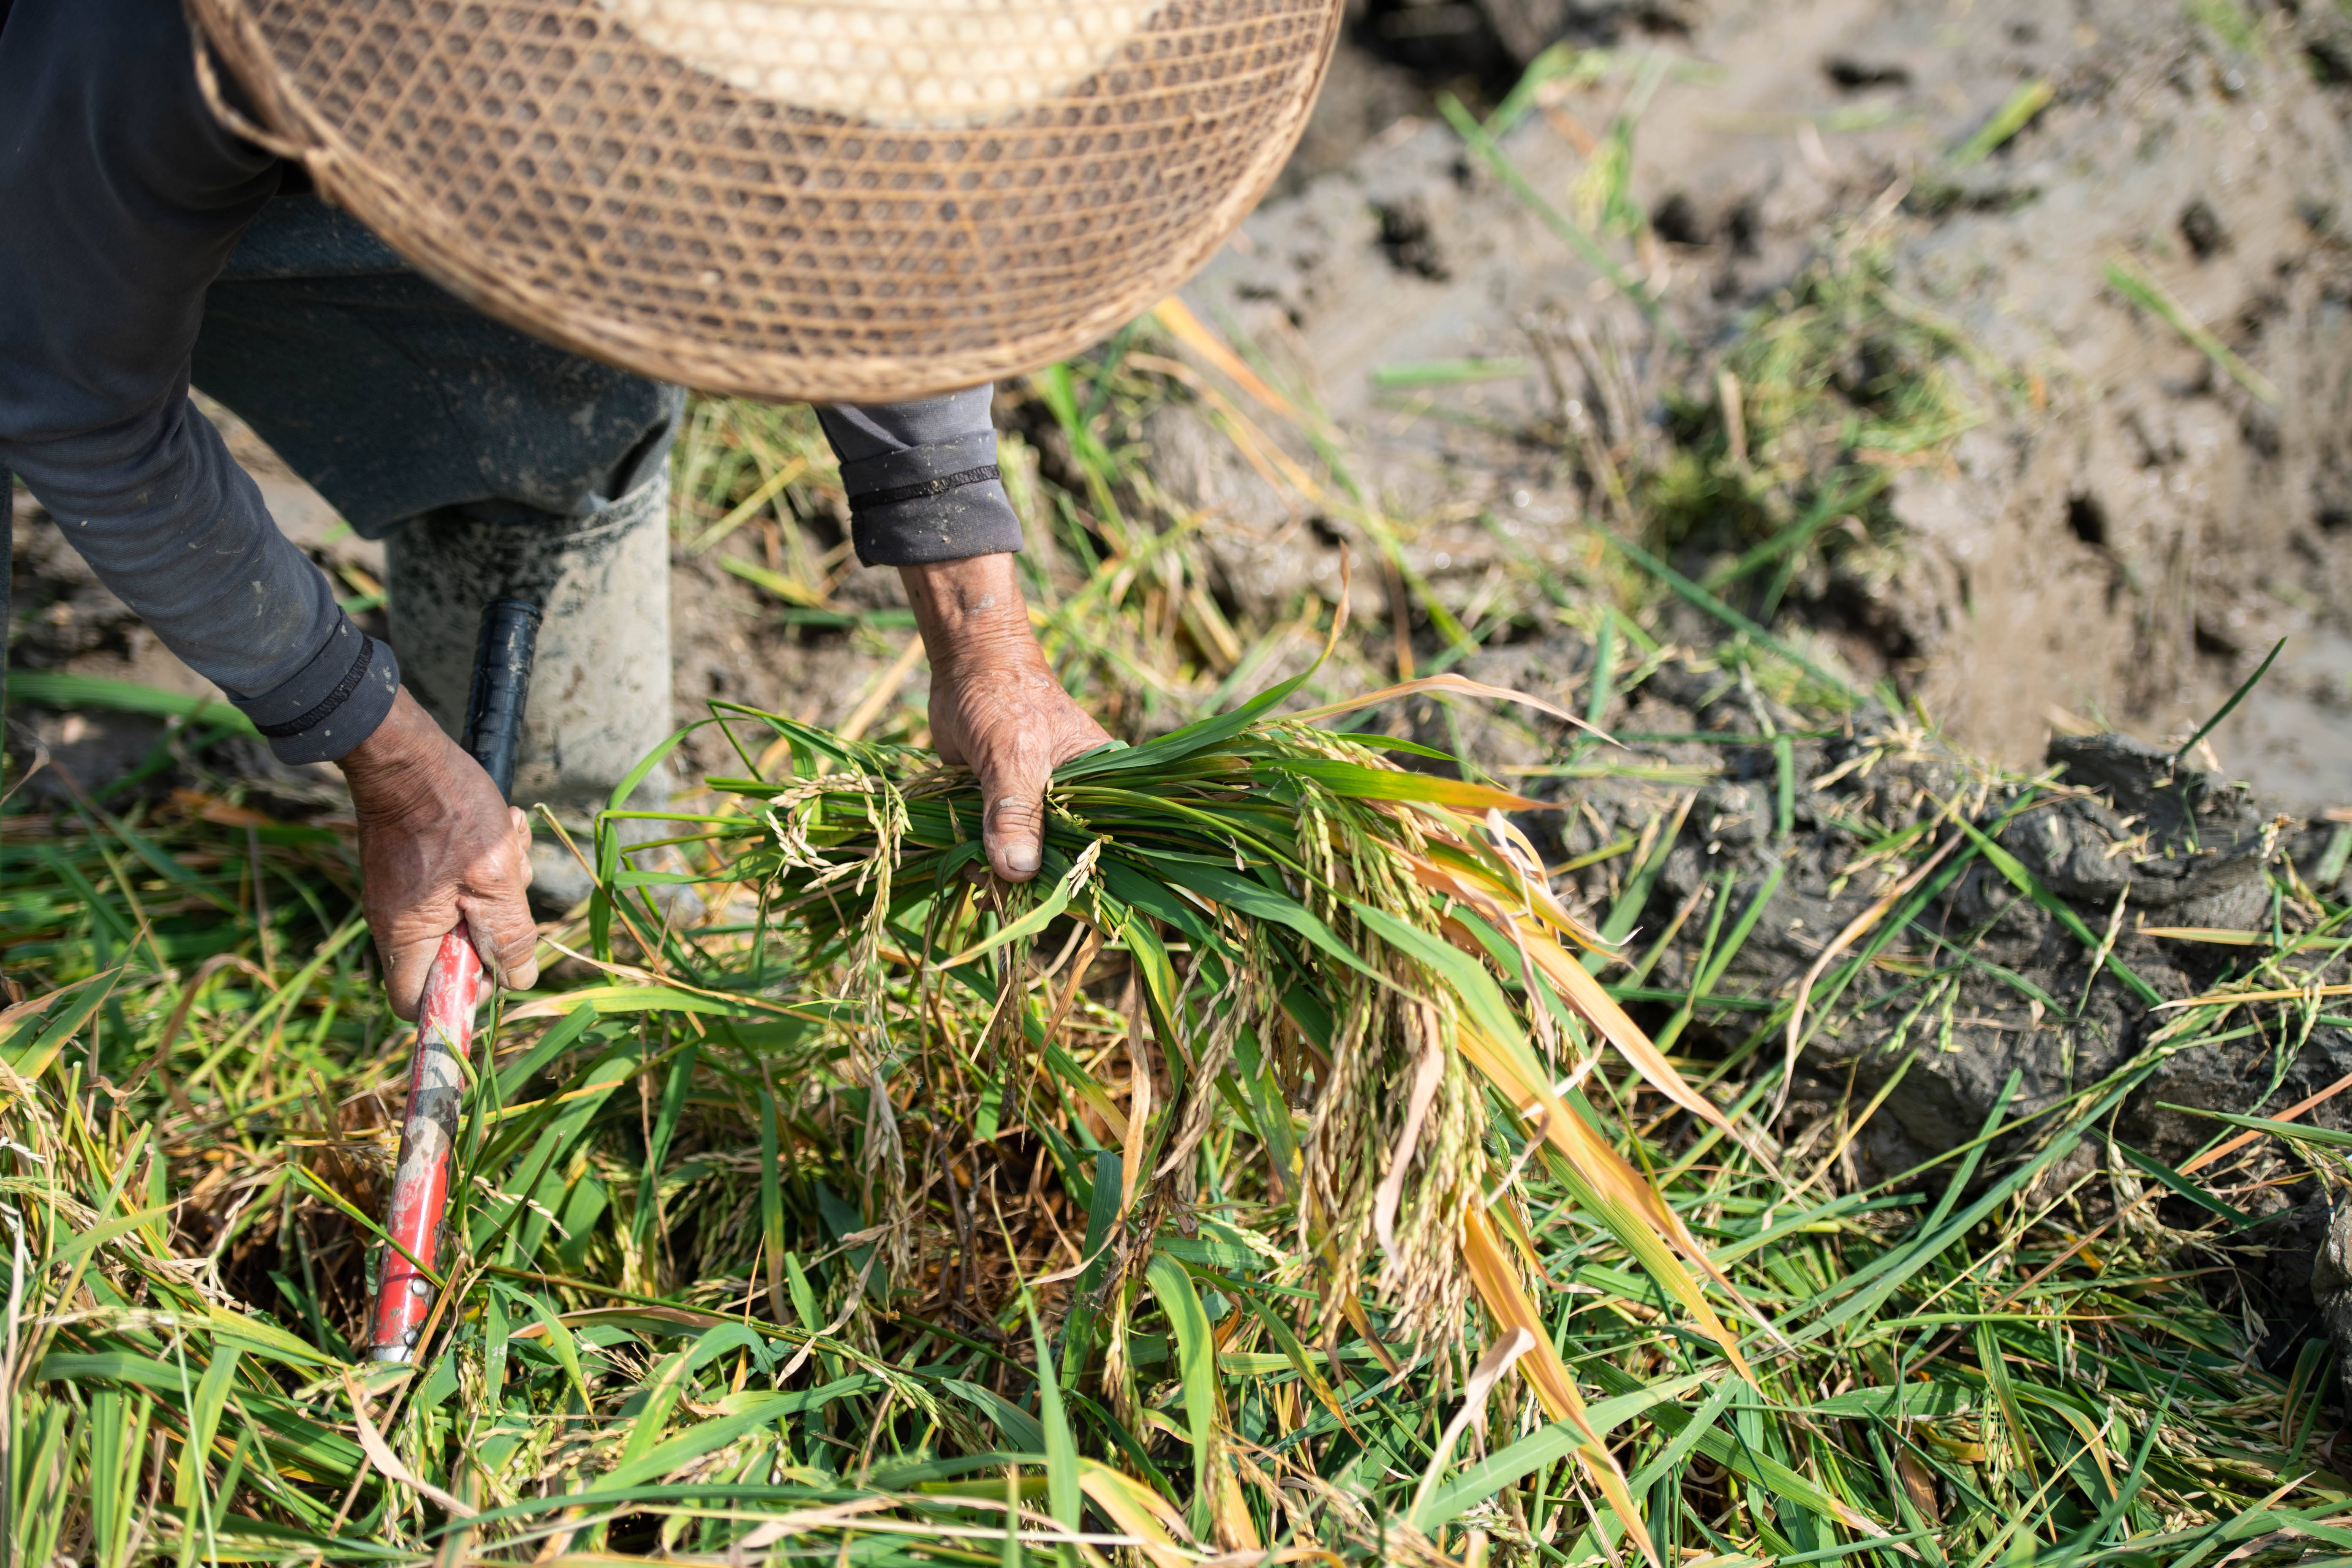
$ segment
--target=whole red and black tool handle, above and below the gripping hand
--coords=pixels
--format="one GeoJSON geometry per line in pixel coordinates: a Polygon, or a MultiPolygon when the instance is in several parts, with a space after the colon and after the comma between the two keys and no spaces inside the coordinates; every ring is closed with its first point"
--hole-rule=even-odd
{"type": "MultiPolygon", "coordinates": [[[[466,750],[482,764],[499,795],[515,785],[515,745],[532,684],[539,609],[494,599],[482,611],[482,642],[466,705],[466,750]]],[[[409,1361],[433,1314],[433,1269],[440,1267],[442,1215],[456,1166],[456,1112],[463,1098],[459,1063],[473,1048],[473,1013],[485,990],[482,959],[466,922],[442,938],[416,1013],[416,1060],[409,1065],[409,1110],[400,1124],[400,1166],[383,1220],[386,1248],[376,1265],[376,1305],[369,1314],[367,1359],[409,1361]]]]}

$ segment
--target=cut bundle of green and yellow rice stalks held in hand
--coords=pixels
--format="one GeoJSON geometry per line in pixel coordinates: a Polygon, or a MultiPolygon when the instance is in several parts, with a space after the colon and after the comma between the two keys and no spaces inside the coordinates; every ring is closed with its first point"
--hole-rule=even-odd
{"type": "MultiPolygon", "coordinates": [[[[1063,1100],[1091,1091],[1117,1133],[1120,1166],[1120,1192],[1096,1190],[1094,1206],[1122,1234],[1131,1222],[1150,1237],[1162,1218],[1200,1211],[1204,1168],[1216,1168],[1225,1192],[1254,1190],[1279,1213],[1296,1251],[1277,1281],[1315,1293],[1331,1345],[1345,1314],[1369,1335],[1367,1286],[1414,1347],[1458,1338],[1475,1295],[1491,1352],[1472,1385],[1491,1385],[1524,1354],[1536,1399],[1583,1434],[1576,1458],[1590,1486],[1656,1559],[1534,1305],[1529,1279],[1541,1267],[1517,1178],[1541,1152],[1578,1211],[1752,1380],[1708,1286],[1752,1309],[1618,1152],[1611,1119],[1581,1084],[1616,1053],[1672,1107],[1722,1131],[1731,1124],[1583,961],[1609,945],[1552,896],[1541,856],[1505,816],[1538,802],[1397,769],[1310,724],[1411,691],[1536,698],[1430,677],[1272,717],[1305,679],[1065,764],[1047,802],[1042,872],[1025,886],[985,875],[969,773],[762,715],[793,771],[713,780],[757,804],[757,837],[743,839],[727,875],[757,884],[771,917],[804,929],[811,971],[842,976],[833,1023],[861,1041],[875,1126],[922,1121],[946,1150],[985,1145],[1014,1117],[1037,1128],[1063,1121],[1063,1100]],[[1033,964],[1051,938],[1054,969],[1068,966],[1058,997],[1035,983],[1033,964]],[[1141,1039],[1129,1041],[1127,1112],[1103,1100],[1061,1039],[1105,957],[1124,959],[1141,1004],[1131,1023],[1148,1020],[1157,1044],[1148,1060],[1141,1039]],[[941,1009],[946,990],[978,1009],[976,1030],[941,1009]],[[898,1091],[877,1074],[889,1060],[903,1070],[898,1091]],[[1171,1098],[1157,1119],[1155,1070],[1171,1098]],[[1225,1110],[1254,1133],[1261,1171],[1202,1159],[1225,1110]]],[[[889,1253],[908,1267],[903,1143],[868,1135],[866,1150],[884,1192],[870,1213],[887,1215],[889,1253]]],[[[1084,1159],[1068,1145],[1054,1154],[1063,1180],[1084,1190],[1084,1159]]],[[[1096,1237],[1089,1246],[1115,1258],[1105,1272],[1089,1255],[1096,1291],[1115,1291],[1122,1265],[1148,1251],[1096,1237]]],[[[1207,1443],[1195,1460],[1207,1474],[1207,1443]]]]}

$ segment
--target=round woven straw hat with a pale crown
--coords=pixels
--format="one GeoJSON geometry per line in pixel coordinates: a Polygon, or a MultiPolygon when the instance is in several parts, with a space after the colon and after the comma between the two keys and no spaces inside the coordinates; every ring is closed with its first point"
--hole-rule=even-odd
{"type": "Polygon", "coordinates": [[[268,122],[240,129],[463,299],[647,376],[816,402],[978,386],[1145,310],[1282,167],[1341,19],[188,2],[268,122]]]}

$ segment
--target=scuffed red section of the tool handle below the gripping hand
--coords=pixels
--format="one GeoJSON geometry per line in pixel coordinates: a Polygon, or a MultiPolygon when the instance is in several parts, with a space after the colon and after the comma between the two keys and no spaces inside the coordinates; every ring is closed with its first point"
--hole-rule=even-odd
{"type": "Polygon", "coordinates": [[[400,1124],[400,1166],[393,1171],[393,1208],[383,1222],[393,1244],[376,1265],[369,1361],[412,1359],[433,1312],[433,1281],[409,1260],[440,1260],[440,1225],[456,1161],[456,1107],[466,1091],[459,1060],[473,1048],[473,1011],[480,1001],[482,959],[461,919],[433,954],[423,1009],[416,1013],[409,1112],[400,1124]]]}

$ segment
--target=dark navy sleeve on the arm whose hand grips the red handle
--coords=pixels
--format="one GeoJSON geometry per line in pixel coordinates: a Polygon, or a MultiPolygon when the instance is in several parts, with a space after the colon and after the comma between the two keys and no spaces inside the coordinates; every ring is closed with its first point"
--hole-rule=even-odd
{"type": "Polygon", "coordinates": [[[191,61],[172,0],[9,5],[0,465],[280,759],[332,762],[390,712],[400,665],[188,402],[205,287],[280,181],[191,61]]]}

